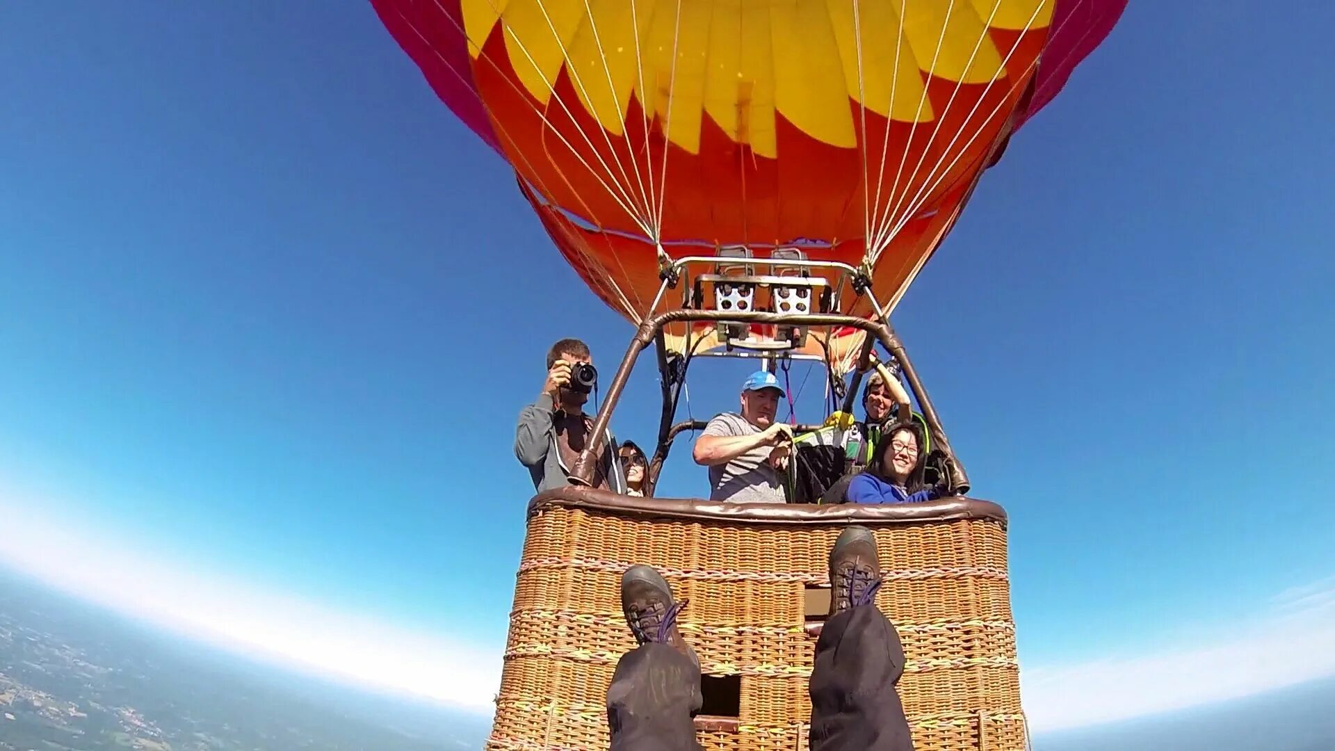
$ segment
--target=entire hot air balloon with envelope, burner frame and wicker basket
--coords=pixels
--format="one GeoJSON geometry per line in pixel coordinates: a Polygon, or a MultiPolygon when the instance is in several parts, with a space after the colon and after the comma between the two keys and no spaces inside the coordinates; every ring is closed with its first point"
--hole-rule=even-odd
{"type": "Polygon", "coordinates": [[[581,486],[590,446],[570,488],[530,502],[487,748],[606,746],[599,692],[633,645],[615,595],[633,563],[713,603],[684,620],[717,710],[700,720],[702,743],[794,747],[810,711],[798,687],[820,628],[812,600],[850,521],[877,528],[897,581],[878,605],[905,635],[917,747],[1021,748],[1005,513],[964,497],[969,480],[889,314],[1125,0],[371,3],[514,171],[557,251],[638,327],[595,436],[655,345],[650,489],[673,438],[698,428],[673,422],[698,351],[818,359],[852,412],[880,345],[956,493],[914,508],[627,498],[581,486]]]}

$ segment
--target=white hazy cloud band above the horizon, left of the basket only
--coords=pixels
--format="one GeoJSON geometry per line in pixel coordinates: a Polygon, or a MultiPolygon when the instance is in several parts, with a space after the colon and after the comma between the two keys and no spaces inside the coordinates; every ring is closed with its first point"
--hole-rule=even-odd
{"type": "Polygon", "coordinates": [[[48,584],[196,639],[391,691],[490,711],[498,645],[413,633],[255,584],[117,549],[107,537],[36,518],[0,498],[0,561],[48,584]]]}

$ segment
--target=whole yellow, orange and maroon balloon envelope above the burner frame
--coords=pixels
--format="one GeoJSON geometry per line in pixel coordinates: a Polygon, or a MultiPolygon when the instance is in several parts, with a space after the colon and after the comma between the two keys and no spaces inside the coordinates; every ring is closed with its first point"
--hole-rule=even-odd
{"type": "Polygon", "coordinates": [[[1125,7],[371,1],[514,167],[566,261],[631,321],[663,255],[730,245],[865,262],[892,307],[1005,140],[1125,7]]]}

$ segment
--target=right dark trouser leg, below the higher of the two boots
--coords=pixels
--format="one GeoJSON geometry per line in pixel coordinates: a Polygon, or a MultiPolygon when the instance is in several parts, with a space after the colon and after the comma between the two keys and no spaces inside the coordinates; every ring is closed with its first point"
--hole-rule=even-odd
{"type": "Polygon", "coordinates": [[[904,647],[874,605],[836,613],[821,629],[812,671],[812,751],[912,751],[894,684],[904,647]]]}

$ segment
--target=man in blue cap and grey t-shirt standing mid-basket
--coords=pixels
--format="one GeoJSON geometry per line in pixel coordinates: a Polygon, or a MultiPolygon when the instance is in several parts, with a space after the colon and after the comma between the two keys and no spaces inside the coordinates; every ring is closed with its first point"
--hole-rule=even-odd
{"type": "Polygon", "coordinates": [[[696,440],[696,464],[709,468],[709,500],[784,504],[792,426],[774,422],[784,389],[757,370],[742,382],[741,413],[725,412],[696,440]]]}

